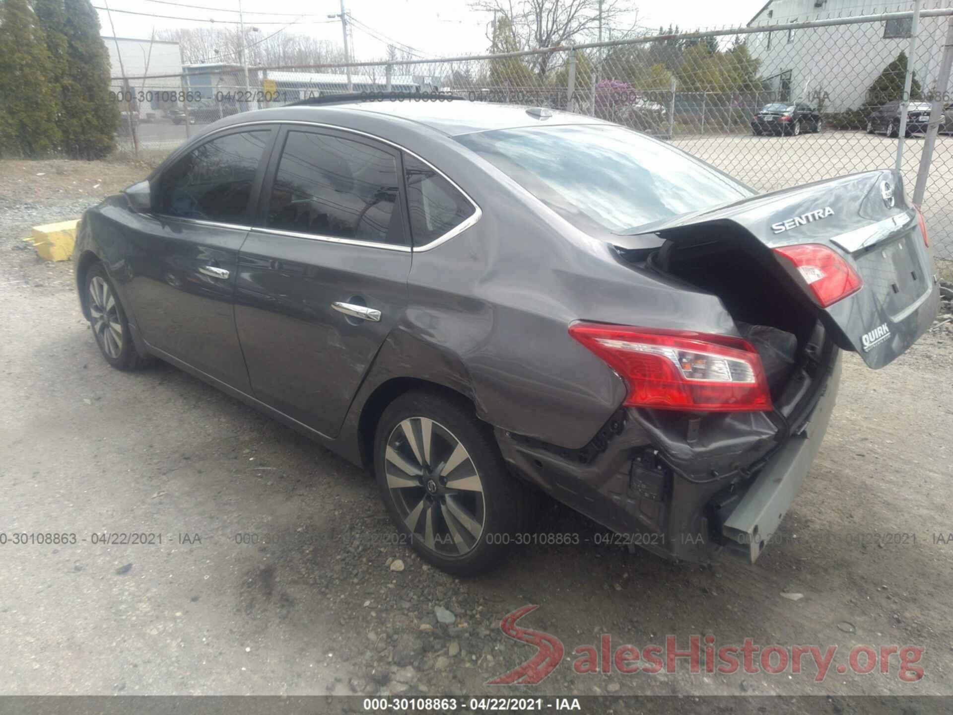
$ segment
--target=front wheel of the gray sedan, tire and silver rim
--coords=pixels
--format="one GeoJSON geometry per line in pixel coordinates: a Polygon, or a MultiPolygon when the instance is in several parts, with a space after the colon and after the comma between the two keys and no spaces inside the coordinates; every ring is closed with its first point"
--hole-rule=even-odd
{"type": "Polygon", "coordinates": [[[103,358],[116,370],[136,370],[152,362],[136,352],[126,311],[102,263],[91,265],[85,284],[92,335],[103,358]]]}

